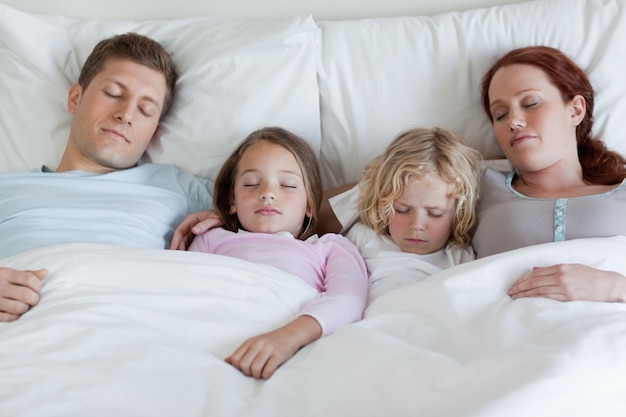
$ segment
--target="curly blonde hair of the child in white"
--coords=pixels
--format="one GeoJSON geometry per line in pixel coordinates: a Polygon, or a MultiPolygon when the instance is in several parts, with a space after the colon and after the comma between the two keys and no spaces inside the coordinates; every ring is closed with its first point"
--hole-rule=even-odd
{"type": "Polygon", "coordinates": [[[452,185],[456,200],[449,243],[466,246],[476,222],[481,155],[459,135],[441,128],[401,133],[366,165],[359,186],[359,212],[364,224],[389,235],[393,203],[410,180],[436,173],[452,185]]]}

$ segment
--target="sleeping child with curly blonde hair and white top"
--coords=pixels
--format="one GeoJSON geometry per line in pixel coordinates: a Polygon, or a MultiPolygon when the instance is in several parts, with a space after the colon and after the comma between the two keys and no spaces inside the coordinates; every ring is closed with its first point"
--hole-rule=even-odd
{"type": "MultiPolygon", "coordinates": [[[[480,159],[452,132],[414,129],[396,137],[365,167],[358,187],[361,222],[347,237],[366,261],[369,303],[474,259],[469,242],[480,159]]],[[[342,199],[354,212],[354,193],[339,195],[331,200],[339,219],[342,199]]]]}

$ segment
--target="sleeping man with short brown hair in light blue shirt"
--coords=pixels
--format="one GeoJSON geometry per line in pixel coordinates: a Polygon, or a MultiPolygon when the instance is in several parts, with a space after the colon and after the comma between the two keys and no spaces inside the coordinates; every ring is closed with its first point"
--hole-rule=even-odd
{"type": "MultiPolygon", "coordinates": [[[[0,175],[0,265],[69,242],[163,249],[187,213],[212,205],[197,177],[137,165],[176,80],[170,55],[150,38],[129,33],[96,45],[69,90],[73,121],[56,171],[0,175]]],[[[0,321],[37,304],[46,276],[0,266],[0,321]]]]}

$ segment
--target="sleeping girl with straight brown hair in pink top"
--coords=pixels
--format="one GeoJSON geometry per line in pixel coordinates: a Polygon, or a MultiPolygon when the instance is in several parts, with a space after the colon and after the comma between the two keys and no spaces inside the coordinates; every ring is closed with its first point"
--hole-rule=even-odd
{"type": "Polygon", "coordinates": [[[269,378],[301,347],[363,316],[365,264],[348,239],[313,234],[321,200],[315,153],[281,128],[251,133],[217,176],[213,202],[223,227],[197,236],[189,250],[274,265],[319,292],[293,321],[226,358],[248,376],[269,378]]]}

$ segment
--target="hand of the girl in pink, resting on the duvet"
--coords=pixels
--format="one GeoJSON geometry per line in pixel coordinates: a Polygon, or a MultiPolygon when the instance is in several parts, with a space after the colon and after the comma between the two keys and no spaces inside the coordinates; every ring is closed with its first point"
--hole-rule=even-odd
{"type": "Polygon", "coordinates": [[[246,340],[225,361],[247,376],[267,379],[298,349],[322,336],[322,328],[311,316],[246,340]]]}

